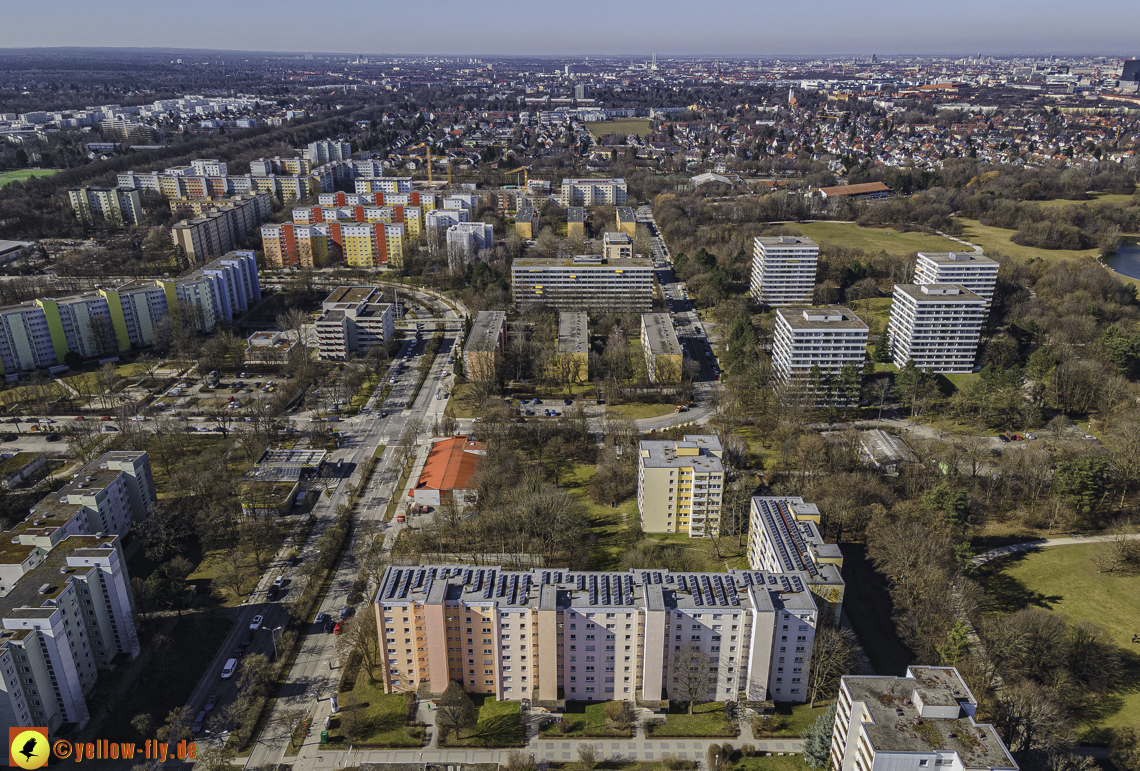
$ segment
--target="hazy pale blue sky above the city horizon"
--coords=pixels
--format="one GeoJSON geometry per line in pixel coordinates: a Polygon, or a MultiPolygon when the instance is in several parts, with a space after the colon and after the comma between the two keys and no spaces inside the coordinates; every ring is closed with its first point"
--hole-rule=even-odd
{"type": "Polygon", "coordinates": [[[35,0],[0,48],[360,55],[1140,55],[1137,0],[35,0]]]}

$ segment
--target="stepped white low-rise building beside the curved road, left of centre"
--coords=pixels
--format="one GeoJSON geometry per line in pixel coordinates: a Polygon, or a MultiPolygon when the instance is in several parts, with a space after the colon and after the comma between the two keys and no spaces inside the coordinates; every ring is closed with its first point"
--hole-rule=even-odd
{"type": "Polygon", "coordinates": [[[378,286],[337,286],[325,298],[317,330],[317,355],[344,362],[353,354],[386,346],[396,336],[396,309],[381,302],[378,286]]]}

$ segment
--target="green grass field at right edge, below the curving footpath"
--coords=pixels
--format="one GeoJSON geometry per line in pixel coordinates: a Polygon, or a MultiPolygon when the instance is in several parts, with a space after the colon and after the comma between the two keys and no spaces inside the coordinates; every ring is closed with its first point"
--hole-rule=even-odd
{"type": "Polygon", "coordinates": [[[1104,699],[1100,715],[1086,719],[1080,728],[1090,740],[1101,728],[1140,729],[1140,654],[1132,643],[1132,635],[1140,632],[1140,574],[1098,573],[1090,559],[1093,549],[1058,546],[1007,558],[982,582],[995,612],[1047,608],[1070,622],[1100,624],[1121,647],[1126,666],[1121,688],[1104,699]]]}

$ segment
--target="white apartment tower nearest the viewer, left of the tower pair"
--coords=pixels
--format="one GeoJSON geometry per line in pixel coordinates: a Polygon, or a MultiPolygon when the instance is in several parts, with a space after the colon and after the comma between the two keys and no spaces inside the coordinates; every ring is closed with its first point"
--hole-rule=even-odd
{"type": "Polygon", "coordinates": [[[820,406],[844,406],[852,400],[850,395],[824,392],[811,382],[812,373],[819,367],[825,378],[836,378],[844,367],[854,365],[862,378],[866,336],[866,324],[848,308],[779,308],[772,335],[772,367],[782,384],[815,389],[820,406]]]}

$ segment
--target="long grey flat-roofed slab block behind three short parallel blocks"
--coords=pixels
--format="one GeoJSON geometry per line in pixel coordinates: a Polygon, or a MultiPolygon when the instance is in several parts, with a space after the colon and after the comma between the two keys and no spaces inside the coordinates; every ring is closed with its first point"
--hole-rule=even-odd
{"type": "Polygon", "coordinates": [[[511,285],[519,307],[644,314],[653,306],[653,263],[643,257],[526,257],[511,263],[511,285]]]}

